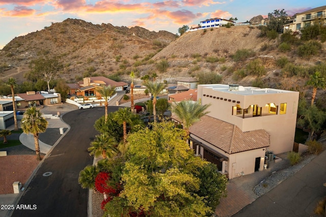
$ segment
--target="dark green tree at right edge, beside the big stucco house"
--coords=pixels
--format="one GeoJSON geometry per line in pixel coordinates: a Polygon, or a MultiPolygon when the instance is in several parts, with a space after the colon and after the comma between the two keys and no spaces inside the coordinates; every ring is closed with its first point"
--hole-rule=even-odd
{"type": "Polygon", "coordinates": [[[310,130],[309,140],[311,140],[314,133],[322,129],[326,120],[326,113],[319,110],[315,105],[304,109],[301,113],[302,116],[298,119],[297,124],[310,130]]]}

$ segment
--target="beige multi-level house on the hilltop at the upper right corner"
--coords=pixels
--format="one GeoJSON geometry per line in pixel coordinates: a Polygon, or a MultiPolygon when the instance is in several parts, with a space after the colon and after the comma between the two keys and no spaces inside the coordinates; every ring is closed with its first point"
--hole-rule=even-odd
{"type": "Polygon", "coordinates": [[[293,22],[283,26],[284,32],[288,30],[292,32],[300,31],[304,27],[313,25],[314,22],[326,24],[326,6],[294,14],[293,22]]]}

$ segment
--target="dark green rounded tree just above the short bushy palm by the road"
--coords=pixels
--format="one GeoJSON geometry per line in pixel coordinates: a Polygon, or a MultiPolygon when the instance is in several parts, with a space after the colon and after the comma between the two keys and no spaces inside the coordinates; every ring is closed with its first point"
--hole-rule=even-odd
{"type": "Polygon", "coordinates": [[[113,136],[119,143],[123,136],[123,126],[114,120],[114,112],[108,113],[107,120],[105,121],[105,115],[98,118],[94,123],[94,128],[98,132],[113,136]]]}

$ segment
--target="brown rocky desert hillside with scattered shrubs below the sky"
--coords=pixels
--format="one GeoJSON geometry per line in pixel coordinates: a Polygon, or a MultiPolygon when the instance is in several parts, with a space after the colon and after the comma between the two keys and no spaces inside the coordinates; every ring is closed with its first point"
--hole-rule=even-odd
{"type": "Polygon", "coordinates": [[[176,37],[166,31],[156,33],[141,27],[67,19],[13,39],[0,51],[0,73],[4,81],[13,76],[22,82],[30,61],[46,54],[62,57],[65,68],[59,76],[67,82],[90,75],[116,75],[129,82],[133,70],[135,83],[153,73],[158,75],[157,80],[170,83],[180,77],[213,73],[221,76],[222,83],[252,85],[259,78],[259,86],[298,90],[297,85],[305,84],[314,67],[325,64],[326,43],[319,41],[321,48],[314,55],[303,57],[297,48],[306,42],[295,39],[288,50],[281,51],[280,36],[270,40],[260,34],[258,27],[247,25],[200,29],[176,37]],[[253,55],[234,60],[236,51],[243,49],[253,55]],[[286,60],[284,66],[278,63],[280,59],[286,60]],[[254,67],[263,68],[259,76],[249,70],[257,63],[254,67]],[[298,74],[301,75],[293,76],[298,74]]]}

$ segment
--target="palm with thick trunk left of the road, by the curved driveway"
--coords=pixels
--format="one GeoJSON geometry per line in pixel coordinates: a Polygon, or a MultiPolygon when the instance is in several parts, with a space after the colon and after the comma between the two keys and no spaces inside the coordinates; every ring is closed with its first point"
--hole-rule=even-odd
{"type": "Polygon", "coordinates": [[[26,109],[23,118],[21,119],[21,129],[25,134],[33,134],[35,143],[36,160],[40,161],[40,146],[39,146],[39,134],[46,131],[48,122],[39,109],[34,106],[26,109]]]}

